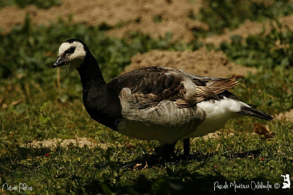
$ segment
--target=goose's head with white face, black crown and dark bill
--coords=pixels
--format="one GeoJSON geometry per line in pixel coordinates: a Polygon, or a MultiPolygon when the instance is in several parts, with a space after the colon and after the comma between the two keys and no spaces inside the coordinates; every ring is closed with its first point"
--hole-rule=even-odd
{"type": "Polygon", "coordinates": [[[69,65],[76,69],[80,68],[88,53],[88,47],[79,39],[69,39],[64,41],[58,53],[56,62],[52,68],[69,65]]]}

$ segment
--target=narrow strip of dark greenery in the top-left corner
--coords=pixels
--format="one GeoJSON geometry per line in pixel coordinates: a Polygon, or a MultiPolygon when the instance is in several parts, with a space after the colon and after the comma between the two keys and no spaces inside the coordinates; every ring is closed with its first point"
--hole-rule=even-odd
{"type": "Polygon", "coordinates": [[[52,6],[57,6],[62,3],[62,0],[1,0],[0,8],[17,5],[18,7],[24,8],[27,5],[34,5],[38,8],[48,9],[52,6]]]}

